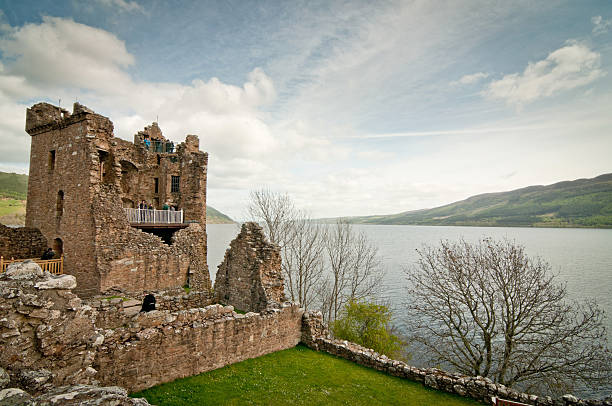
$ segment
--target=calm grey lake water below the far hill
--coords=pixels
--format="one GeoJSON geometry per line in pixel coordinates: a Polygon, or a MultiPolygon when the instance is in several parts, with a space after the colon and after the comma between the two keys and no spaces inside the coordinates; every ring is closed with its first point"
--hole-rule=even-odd
{"type": "MultiPolygon", "coordinates": [[[[476,242],[483,237],[506,238],[525,247],[529,256],[546,260],[560,281],[567,283],[571,298],[596,299],[607,315],[608,343],[612,343],[612,230],[576,228],[451,227],[451,226],[383,226],[354,225],[378,246],[386,270],[383,297],[401,316],[406,281],[404,269],[414,266],[416,249],[423,244],[436,245],[440,240],[476,242]]],[[[208,266],[214,280],[217,266],[229,242],[240,231],[233,224],[209,224],[208,266]]],[[[603,392],[577,392],[585,397],[610,395],[603,392]]]]}

